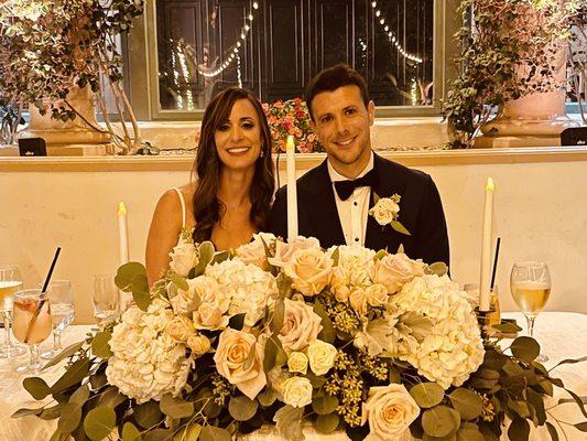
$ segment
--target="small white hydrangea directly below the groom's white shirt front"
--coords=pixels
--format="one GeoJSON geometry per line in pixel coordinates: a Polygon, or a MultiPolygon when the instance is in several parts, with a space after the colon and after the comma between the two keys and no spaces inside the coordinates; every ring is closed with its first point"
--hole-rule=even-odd
{"type": "Polygon", "coordinates": [[[373,270],[376,251],[359,246],[343,245],[328,248],[329,257],[336,248],[338,248],[338,266],[334,269],[333,286],[366,287],[371,284],[369,275],[373,270]]]}

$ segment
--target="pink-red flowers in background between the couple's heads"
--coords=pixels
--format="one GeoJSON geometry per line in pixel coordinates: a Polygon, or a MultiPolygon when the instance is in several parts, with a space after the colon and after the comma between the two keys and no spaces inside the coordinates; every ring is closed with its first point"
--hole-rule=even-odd
{"type": "Polygon", "coordinates": [[[263,103],[263,110],[271,129],[273,151],[284,152],[289,136],[295,138],[295,146],[300,153],[322,152],[318,138],[311,127],[307,105],[301,98],[276,100],[273,104],[263,103]]]}

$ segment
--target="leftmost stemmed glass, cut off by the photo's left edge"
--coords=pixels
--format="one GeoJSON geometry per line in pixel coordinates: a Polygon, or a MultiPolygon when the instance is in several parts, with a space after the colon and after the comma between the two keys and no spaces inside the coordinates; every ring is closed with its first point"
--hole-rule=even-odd
{"type": "Polygon", "coordinates": [[[0,358],[9,358],[26,353],[22,345],[12,343],[12,297],[22,289],[22,277],[17,266],[0,266],[0,311],[4,322],[4,343],[0,346],[0,358]]]}

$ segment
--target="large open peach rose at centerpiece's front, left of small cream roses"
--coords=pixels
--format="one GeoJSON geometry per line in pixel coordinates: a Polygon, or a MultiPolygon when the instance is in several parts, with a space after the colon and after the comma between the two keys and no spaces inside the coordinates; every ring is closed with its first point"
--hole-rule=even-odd
{"type": "Polygon", "coordinates": [[[231,327],[224,330],[214,354],[214,362],[218,374],[252,400],[267,385],[263,347],[257,343],[252,334],[231,327]],[[251,351],[252,363],[247,362],[251,351]]]}

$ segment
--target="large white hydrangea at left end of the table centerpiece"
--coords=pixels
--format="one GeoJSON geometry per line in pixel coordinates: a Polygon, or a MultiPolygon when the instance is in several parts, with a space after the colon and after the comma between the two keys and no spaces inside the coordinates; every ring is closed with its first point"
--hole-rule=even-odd
{"type": "Polygon", "coordinates": [[[187,381],[192,359],[185,345],[163,332],[172,319],[173,311],[155,299],[148,312],[128,309],[112,331],[108,383],[138,404],[177,396],[187,381]]]}

